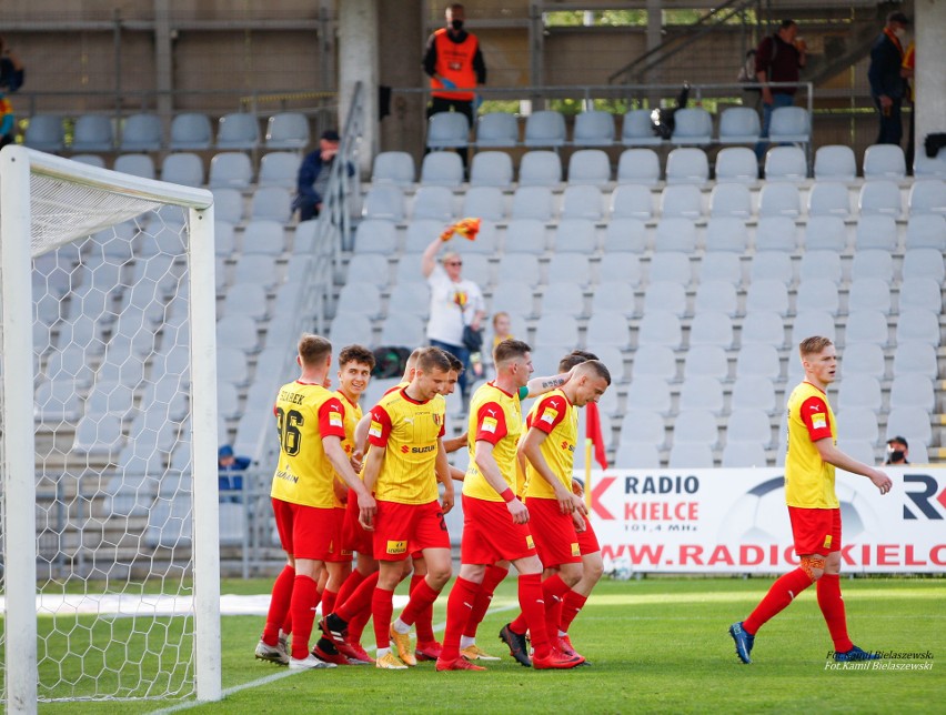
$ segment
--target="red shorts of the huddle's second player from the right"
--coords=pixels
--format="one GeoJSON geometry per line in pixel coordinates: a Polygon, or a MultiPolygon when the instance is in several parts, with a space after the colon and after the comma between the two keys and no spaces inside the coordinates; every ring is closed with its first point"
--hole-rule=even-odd
{"type": "Polygon", "coordinates": [[[535,555],[529,524],[516,524],[505,502],[487,502],[463,495],[463,541],[460,561],[464,564],[494,564],[535,555]]]}

